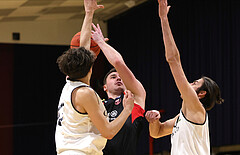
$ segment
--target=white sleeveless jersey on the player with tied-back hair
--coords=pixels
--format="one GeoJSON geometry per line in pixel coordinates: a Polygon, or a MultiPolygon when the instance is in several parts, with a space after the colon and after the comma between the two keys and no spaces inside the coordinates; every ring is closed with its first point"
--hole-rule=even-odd
{"type": "Polygon", "coordinates": [[[171,135],[171,155],[210,155],[208,116],[203,124],[187,120],[180,111],[171,135]]]}

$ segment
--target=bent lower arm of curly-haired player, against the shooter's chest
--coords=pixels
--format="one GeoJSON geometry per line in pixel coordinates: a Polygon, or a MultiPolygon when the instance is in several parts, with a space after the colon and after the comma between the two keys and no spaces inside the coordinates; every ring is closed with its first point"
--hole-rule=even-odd
{"type": "Polygon", "coordinates": [[[112,139],[122,128],[132,112],[134,106],[133,101],[133,94],[130,91],[126,91],[123,99],[123,111],[114,121],[108,122],[99,107],[98,98],[92,89],[81,88],[73,93],[73,103],[76,109],[82,113],[88,113],[101,135],[107,139],[112,139]]]}

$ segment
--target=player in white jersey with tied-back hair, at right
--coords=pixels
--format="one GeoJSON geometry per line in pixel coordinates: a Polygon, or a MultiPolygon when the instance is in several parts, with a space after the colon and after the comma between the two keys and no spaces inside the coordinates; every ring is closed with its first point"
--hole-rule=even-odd
{"type": "Polygon", "coordinates": [[[182,69],[180,54],[168,22],[167,0],[158,0],[165,56],[183,99],[180,113],[173,119],[160,122],[158,111],[148,111],[150,135],[154,138],[171,134],[172,155],[210,155],[208,115],[206,110],[222,103],[218,85],[207,77],[189,83],[182,69]]]}

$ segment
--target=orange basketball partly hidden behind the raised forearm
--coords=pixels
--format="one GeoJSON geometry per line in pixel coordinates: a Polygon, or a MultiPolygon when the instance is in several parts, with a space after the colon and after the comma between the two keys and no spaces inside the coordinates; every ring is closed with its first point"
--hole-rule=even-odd
{"type": "MultiPolygon", "coordinates": [[[[71,40],[70,48],[78,48],[79,47],[80,34],[81,34],[81,32],[78,32],[73,36],[73,38],[71,40]]],[[[100,53],[100,47],[95,43],[95,41],[93,41],[92,37],[91,37],[90,50],[93,51],[96,54],[96,56],[98,56],[98,54],[100,53]]]]}

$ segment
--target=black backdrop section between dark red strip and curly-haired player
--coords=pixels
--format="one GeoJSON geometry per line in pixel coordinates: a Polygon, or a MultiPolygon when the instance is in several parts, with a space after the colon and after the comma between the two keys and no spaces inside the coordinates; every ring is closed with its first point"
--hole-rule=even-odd
{"type": "Polygon", "coordinates": [[[65,77],[64,46],[14,45],[14,155],[55,154],[57,105],[65,77]]]}

